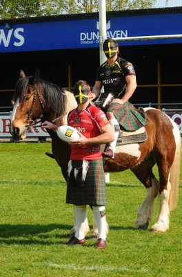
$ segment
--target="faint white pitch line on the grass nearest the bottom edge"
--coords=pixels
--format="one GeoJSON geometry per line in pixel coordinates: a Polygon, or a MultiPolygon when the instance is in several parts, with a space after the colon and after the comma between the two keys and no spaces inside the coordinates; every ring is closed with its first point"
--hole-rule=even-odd
{"type": "Polygon", "coordinates": [[[141,272],[147,272],[147,269],[144,269],[143,267],[139,270],[134,270],[134,269],[129,269],[128,267],[105,267],[105,266],[76,266],[76,265],[58,265],[58,264],[54,264],[52,262],[48,263],[46,262],[45,265],[49,266],[49,267],[56,267],[59,269],[72,269],[72,270],[85,270],[85,271],[103,271],[103,272],[110,272],[110,271],[141,271],[141,272]]]}

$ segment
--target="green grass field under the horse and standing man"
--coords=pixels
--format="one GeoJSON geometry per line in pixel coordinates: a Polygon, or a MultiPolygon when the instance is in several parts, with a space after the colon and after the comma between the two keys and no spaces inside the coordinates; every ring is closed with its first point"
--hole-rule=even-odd
{"type": "MultiPolygon", "coordinates": [[[[56,161],[44,153],[51,143],[0,143],[2,277],[176,277],[182,276],[182,170],[179,204],[170,216],[170,230],[152,233],[134,228],[145,188],[130,170],[110,174],[107,184],[107,248],[95,240],[68,247],[74,224],[72,205],[65,204],[66,184],[56,161]]],[[[154,168],[156,172],[156,168],[154,168]]],[[[88,208],[92,228],[92,213],[88,208]]]]}

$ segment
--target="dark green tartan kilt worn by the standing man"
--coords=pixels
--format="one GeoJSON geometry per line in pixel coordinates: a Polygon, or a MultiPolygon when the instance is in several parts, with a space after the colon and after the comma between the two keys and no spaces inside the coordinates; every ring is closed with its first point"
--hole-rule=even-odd
{"type": "Polygon", "coordinates": [[[108,203],[103,160],[88,160],[89,168],[84,186],[71,184],[67,181],[66,203],[75,205],[105,205],[108,203]]]}

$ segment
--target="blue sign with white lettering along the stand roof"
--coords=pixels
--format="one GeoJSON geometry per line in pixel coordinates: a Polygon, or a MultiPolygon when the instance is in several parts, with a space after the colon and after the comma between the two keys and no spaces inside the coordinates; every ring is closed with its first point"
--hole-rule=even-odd
{"type": "MultiPolygon", "coordinates": [[[[109,17],[108,37],[181,35],[182,13],[109,17]]],[[[173,44],[182,39],[119,42],[119,45],[173,44]]],[[[37,23],[0,22],[0,53],[99,47],[99,19],[37,23]]]]}

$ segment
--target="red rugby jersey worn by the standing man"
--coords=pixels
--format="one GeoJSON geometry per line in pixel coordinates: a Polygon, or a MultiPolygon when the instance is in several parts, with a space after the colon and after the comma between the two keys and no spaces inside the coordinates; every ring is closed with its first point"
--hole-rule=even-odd
{"type": "MultiPolygon", "coordinates": [[[[68,125],[76,128],[86,138],[101,134],[100,128],[110,124],[101,109],[88,105],[84,111],[74,109],[68,114],[68,125]]],[[[101,145],[71,145],[72,160],[92,160],[101,158],[101,145]]]]}

